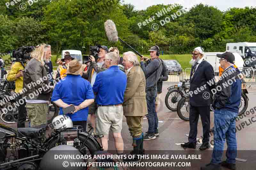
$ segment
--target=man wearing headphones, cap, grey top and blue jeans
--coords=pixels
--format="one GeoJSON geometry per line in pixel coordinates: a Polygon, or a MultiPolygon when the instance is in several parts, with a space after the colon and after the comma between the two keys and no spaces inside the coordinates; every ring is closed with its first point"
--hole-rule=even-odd
{"type": "Polygon", "coordinates": [[[160,49],[158,46],[151,47],[150,51],[151,60],[144,63],[144,57],[140,57],[140,67],[143,70],[146,77],[146,100],[148,107],[148,133],[144,140],[156,139],[158,133],[158,117],[156,114],[156,93],[157,82],[162,74],[164,63],[159,59],[160,49]]]}

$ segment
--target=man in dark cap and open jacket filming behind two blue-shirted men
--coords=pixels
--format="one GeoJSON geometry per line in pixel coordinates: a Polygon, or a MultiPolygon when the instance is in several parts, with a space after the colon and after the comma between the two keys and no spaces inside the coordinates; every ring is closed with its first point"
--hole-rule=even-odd
{"type": "MultiPolygon", "coordinates": [[[[105,63],[104,63],[104,59],[106,57],[106,54],[108,53],[108,47],[107,46],[98,46],[99,48],[99,59],[97,61],[95,61],[95,58],[90,55],[90,59],[92,60],[92,63],[90,63],[87,67],[87,72],[83,72],[82,77],[86,80],[88,80],[91,85],[93,86],[97,73],[99,73],[100,71],[104,71],[107,70],[105,63]]],[[[90,106],[89,106],[89,115],[90,115],[90,122],[92,124],[92,127],[94,129],[94,134],[95,134],[95,112],[97,110],[97,104],[96,102],[93,102],[90,106]]]]}

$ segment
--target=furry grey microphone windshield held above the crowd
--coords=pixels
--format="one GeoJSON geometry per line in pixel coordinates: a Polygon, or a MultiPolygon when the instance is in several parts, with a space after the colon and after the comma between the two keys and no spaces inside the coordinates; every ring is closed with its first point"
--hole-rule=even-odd
{"type": "Polygon", "coordinates": [[[116,24],[112,20],[108,19],[105,22],[104,26],[105,26],[105,31],[106,31],[108,40],[111,42],[118,41],[118,33],[116,30],[116,24]]]}

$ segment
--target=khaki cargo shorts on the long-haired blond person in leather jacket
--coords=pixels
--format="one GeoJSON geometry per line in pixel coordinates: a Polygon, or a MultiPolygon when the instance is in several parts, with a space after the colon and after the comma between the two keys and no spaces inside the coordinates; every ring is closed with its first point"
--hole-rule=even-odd
{"type": "Polygon", "coordinates": [[[27,103],[26,109],[30,127],[47,124],[47,115],[49,113],[49,106],[47,103],[27,103]]]}

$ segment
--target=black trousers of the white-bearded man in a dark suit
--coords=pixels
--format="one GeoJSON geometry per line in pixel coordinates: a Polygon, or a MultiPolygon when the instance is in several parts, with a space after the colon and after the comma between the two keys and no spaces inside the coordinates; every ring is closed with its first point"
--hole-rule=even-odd
{"type": "Polygon", "coordinates": [[[203,125],[203,143],[209,143],[210,138],[210,106],[206,107],[194,107],[190,105],[189,110],[189,136],[188,141],[190,143],[196,143],[197,136],[197,124],[199,115],[201,117],[203,125]]]}

